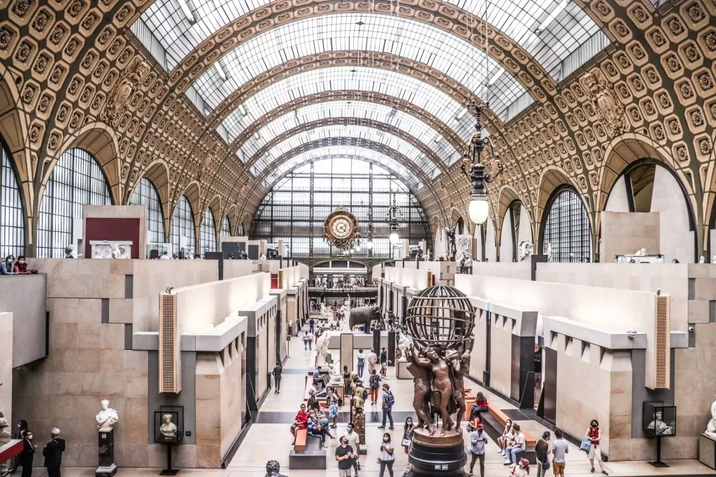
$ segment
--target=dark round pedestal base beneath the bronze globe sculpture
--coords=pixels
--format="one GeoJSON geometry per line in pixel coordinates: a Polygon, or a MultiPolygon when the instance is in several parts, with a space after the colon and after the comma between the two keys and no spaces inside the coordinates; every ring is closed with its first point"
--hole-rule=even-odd
{"type": "Polygon", "coordinates": [[[418,428],[412,438],[412,446],[408,455],[411,468],[404,477],[464,477],[465,453],[463,434],[448,431],[440,437],[440,428],[430,436],[426,429],[418,428]]]}

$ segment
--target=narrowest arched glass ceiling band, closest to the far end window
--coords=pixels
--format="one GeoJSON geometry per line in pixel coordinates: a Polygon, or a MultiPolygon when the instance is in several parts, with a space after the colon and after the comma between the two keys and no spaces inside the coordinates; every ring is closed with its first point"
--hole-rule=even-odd
{"type": "Polygon", "coordinates": [[[314,159],[327,159],[330,157],[347,157],[347,158],[358,158],[364,161],[373,161],[376,164],[381,164],[383,167],[392,170],[402,179],[412,190],[419,190],[422,187],[422,182],[408,170],[405,166],[397,162],[392,157],[388,157],[385,154],[374,151],[372,149],[365,149],[364,147],[356,146],[326,146],[316,147],[310,151],[302,152],[301,154],[292,157],[283,164],[280,164],[271,174],[266,176],[263,185],[268,189],[272,183],[281,177],[284,177],[291,169],[303,164],[306,161],[314,159]]]}

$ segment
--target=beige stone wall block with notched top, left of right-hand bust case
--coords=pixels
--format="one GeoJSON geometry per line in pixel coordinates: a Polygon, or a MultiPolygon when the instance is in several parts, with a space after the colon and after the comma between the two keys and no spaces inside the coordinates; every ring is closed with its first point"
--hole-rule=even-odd
{"type": "Polygon", "coordinates": [[[600,448],[610,460],[629,460],[632,436],[632,359],[627,351],[604,350],[557,335],[556,425],[576,438],[599,421],[600,448]],[[612,442],[614,440],[614,443],[612,442]]]}

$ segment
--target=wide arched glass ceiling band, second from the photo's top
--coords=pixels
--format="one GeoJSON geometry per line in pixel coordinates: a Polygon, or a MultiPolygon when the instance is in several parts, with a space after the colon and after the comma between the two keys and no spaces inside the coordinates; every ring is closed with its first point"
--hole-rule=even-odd
{"type": "MultiPolygon", "coordinates": [[[[458,36],[420,21],[375,14],[318,16],[266,31],[222,57],[225,77],[209,68],[194,87],[213,110],[252,78],[287,61],[348,50],[379,51],[425,63],[478,95],[496,78],[490,109],[499,117],[525,92],[511,74],[497,75],[502,67],[484,51],[458,36]]],[[[369,59],[364,62],[370,66],[369,59]]]]}

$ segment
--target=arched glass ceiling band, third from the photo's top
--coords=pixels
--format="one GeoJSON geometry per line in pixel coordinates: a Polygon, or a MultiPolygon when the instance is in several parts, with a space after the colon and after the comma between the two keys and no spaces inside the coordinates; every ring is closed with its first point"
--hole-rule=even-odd
{"type": "Polygon", "coordinates": [[[405,74],[367,67],[335,67],[296,74],[248,98],[224,119],[229,142],[264,114],[296,98],[325,91],[353,90],[357,100],[371,92],[405,99],[440,119],[467,141],[474,131],[470,114],[440,89],[405,74]],[[457,118],[460,119],[457,119],[457,118]]]}

